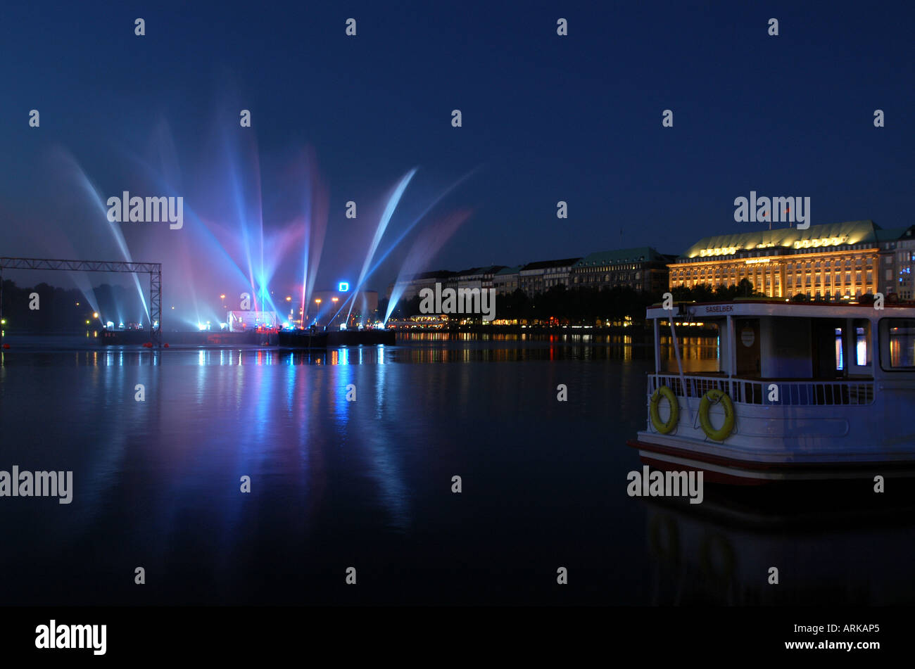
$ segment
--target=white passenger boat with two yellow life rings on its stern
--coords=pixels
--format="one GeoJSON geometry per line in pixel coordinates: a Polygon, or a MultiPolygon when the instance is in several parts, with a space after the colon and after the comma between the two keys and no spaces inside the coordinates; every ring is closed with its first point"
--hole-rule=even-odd
{"type": "Polygon", "coordinates": [[[915,475],[915,305],[735,300],[647,317],[655,373],[629,442],[645,464],[718,483],[915,475]],[[716,369],[684,371],[689,322],[717,328],[716,369]]]}

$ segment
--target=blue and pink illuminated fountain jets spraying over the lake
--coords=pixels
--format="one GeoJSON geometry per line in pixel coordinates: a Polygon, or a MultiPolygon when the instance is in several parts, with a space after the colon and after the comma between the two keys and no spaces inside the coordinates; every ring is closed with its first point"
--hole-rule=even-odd
{"type": "MultiPolygon", "coordinates": [[[[354,309],[360,311],[357,306],[364,299],[365,287],[374,272],[426,214],[469,176],[462,176],[435,197],[419,216],[398,222],[394,215],[417,170],[410,169],[401,176],[387,194],[382,213],[371,230],[360,231],[357,227],[347,231],[347,239],[352,242],[350,248],[357,253],[365,248],[364,256],[360,254],[356,281],[348,285],[347,291],[339,292],[339,299],[320,304],[313,299],[319,270],[336,274],[338,278],[351,277],[345,267],[326,267],[326,258],[322,262],[322,255],[327,255],[328,187],[310,150],[294,154],[282,169],[272,165],[273,171],[264,173],[262,179],[260,154],[252,137],[251,133],[227,128],[217,146],[221,160],[194,172],[192,185],[178,169],[175,142],[165,123],[156,128],[152,153],[127,154],[126,169],[104,187],[93,183],[70,154],[60,152],[58,164],[65,167],[68,180],[77,186],[82,203],[89,205],[82,207],[81,212],[86,218],[81,229],[81,233],[86,233],[86,245],[70,252],[61,250],[60,254],[105,260],[162,261],[165,323],[172,327],[176,322],[182,323],[188,332],[228,334],[235,330],[234,325],[229,326],[230,313],[246,311],[263,314],[261,320],[269,324],[268,329],[283,326],[305,329],[318,323],[318,318],[324,321],[328,316],[329,322],[337,323],[337,319],[346,327],[350,318],[356,316],[354,309]],[[272,186],[267,198],[269,214],[264,212],[264,184],[272,186]],[[182,197],[183,227],[173,231],[167,225],[110,221],[106,195],[108,191],[120,195],[125,190],[145,196],[182,197]],[[371,235],[371,239],[365,240],[365,247],[358,240],[361,234],[371,235]],[[394,239],[383,248],[386,235],[394,239]],[[292,285],[297,287],[290,290],[292,285]]],[[[207,155],[211,154],[212,151],[207,155]]],[[[466,218],[468,213],[462,212],[436,224],[434,231],[421,232],[399,278],[405,272],[415,271],[434,255],[466,218]]],[[[61,235],[62,239],[74,241],[80,237],[61,235]]],[[[339,258],[334,260],[341,264],[339,258]]],[[[133,300],[120,298],[113,307],[107,305],[111,303],[109,299],[105,308],[100,308],[99,295],[88,277],[72,273],[72,279],[92,310],[99,313],[100,325],[111,323],[112,329],[119,330],[121,323],[125,323],[124,329],[130,329],[135,319],[149,323],[149,306],[137,276],[131,275],[131,281],[142,304],[140,314],[136,314],[136,305],[131,305],[133,300]]],[[[340,281],[339,285],[347,283],[340,281]]],[[[397,297],[393,296],[384,320],[390,316],[397,297]]],[[[247,320],[250,319],[243,316],[234,319],[235,324],[247,320]]]]}

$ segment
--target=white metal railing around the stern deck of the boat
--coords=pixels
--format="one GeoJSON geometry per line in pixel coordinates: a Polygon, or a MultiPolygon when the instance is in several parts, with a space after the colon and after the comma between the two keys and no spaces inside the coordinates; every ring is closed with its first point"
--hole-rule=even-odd
{"type": "Polygon", "coordinates": [[[740,404],[815,407],[874,402],[873,381],[781,381],[692,375],[681,381],[680,377],[669,374],[650,374],[648,378],[649,397],[658,388],[667,386],[680,398],[702,398],[709,390],[723,390],[731,401],[740,404]]]}

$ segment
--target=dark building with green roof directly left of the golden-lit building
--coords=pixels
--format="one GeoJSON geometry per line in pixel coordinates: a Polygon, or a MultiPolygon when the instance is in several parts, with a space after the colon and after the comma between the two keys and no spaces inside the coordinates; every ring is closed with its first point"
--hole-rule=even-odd
{"type": "Polygon", "coordinates": [[[625,286],[640,292],[665,292],[668,263],[674,259],[675,256],[647,246],[591,253],[572,268],[571,286],[598,289],[625,286]]]}

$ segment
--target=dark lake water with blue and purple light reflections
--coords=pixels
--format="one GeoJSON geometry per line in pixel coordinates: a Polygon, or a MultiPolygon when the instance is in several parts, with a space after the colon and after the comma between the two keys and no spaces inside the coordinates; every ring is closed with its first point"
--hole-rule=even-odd
{"type": "MultiPolygon", "coordinates": [[[[910,494],[627,496],[653,359],[619,336],[5,341],[0,470],[72,470],[73,500],[0,497],[3,604],[915,601],[910,494]]],[[[684,357],[714,366],[714,340],[684,357]]]]}

